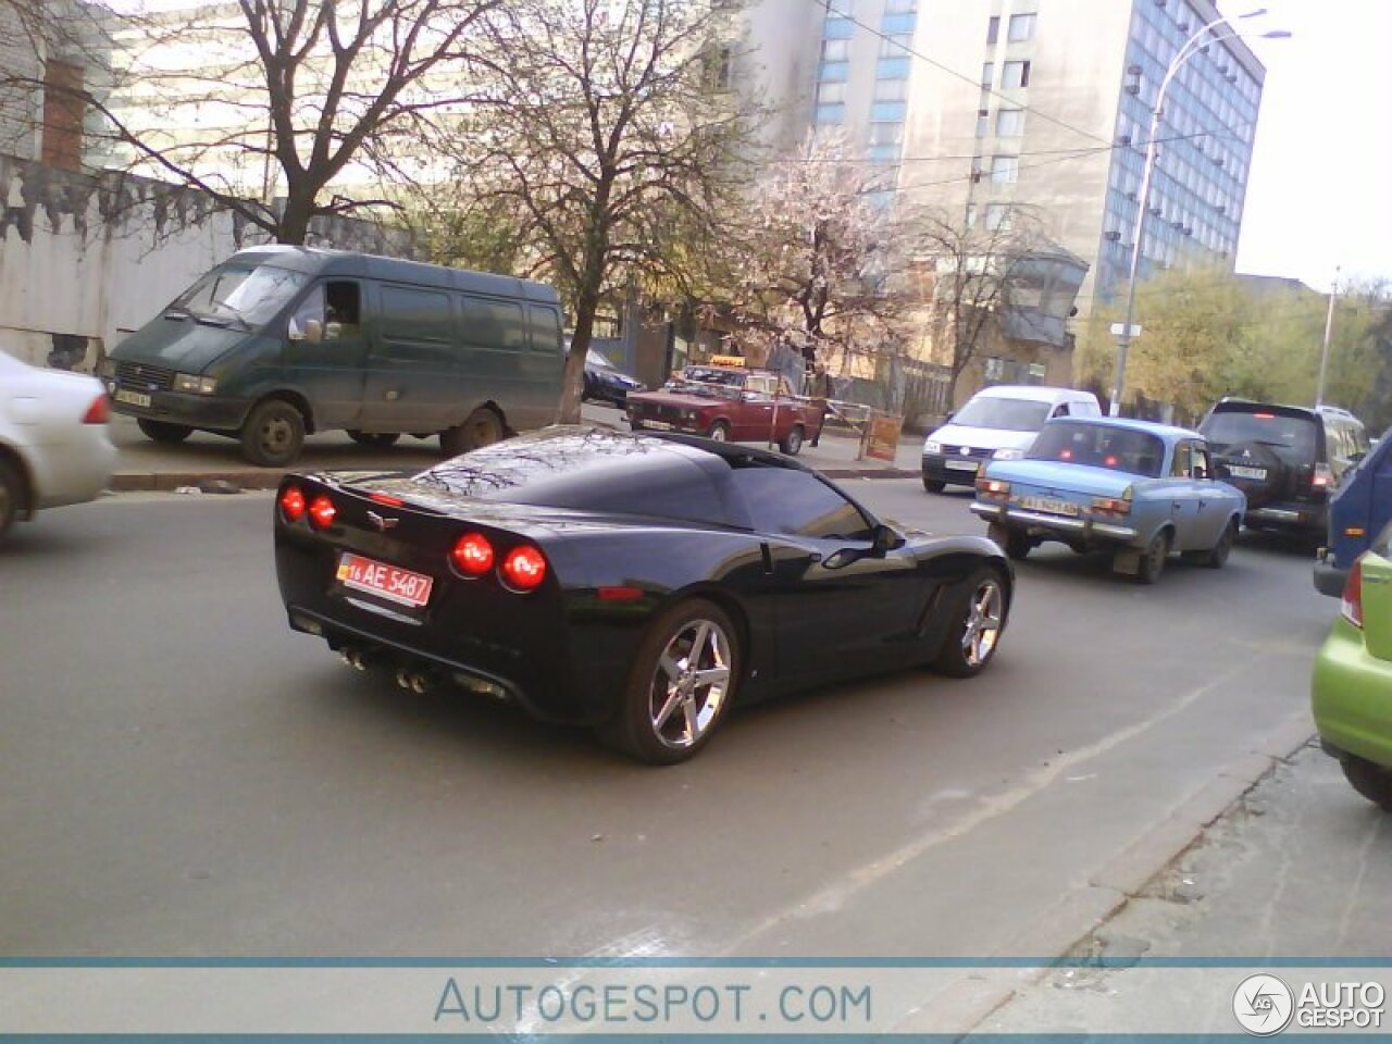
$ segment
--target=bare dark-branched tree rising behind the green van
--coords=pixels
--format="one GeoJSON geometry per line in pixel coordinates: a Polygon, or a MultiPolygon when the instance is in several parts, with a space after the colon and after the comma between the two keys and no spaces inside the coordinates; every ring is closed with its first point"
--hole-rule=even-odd
{"type": "Polygon", "coordinates": [[[313,217],[395,206],[381,182],[412,173],[427,152],[419,142],[466,104],[480,21],[501,3],[235,0],[110,14],[114,50],[89,56],[93,75],[6,78],[96,113],[129,170],[198,188],[298,244],[313,217]]]}

